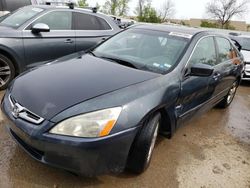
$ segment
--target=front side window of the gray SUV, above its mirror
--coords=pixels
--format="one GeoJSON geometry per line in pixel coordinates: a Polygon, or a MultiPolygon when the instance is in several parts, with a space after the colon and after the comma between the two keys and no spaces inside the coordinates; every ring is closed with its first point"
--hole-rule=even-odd
{"type": "Polygon", "coordinates": [[[35,22],[32,23],[32,25],[35,25],[36,23],[47,24],[50,30],[71,30],[72,12],[69,11],[50,12],[42,16],[41,18],[38,18],[35,22]]]}

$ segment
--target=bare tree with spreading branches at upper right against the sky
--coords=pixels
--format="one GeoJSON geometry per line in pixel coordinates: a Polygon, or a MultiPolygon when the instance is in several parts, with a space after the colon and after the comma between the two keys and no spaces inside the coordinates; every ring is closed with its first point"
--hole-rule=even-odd
{"type": "Polygon", "coordinates": [[[218,20],[223,29],[233,16],[240,16],[247,11],[248,0],[213,0],[207,4],[206,11],[214,19],[218,20]]]}

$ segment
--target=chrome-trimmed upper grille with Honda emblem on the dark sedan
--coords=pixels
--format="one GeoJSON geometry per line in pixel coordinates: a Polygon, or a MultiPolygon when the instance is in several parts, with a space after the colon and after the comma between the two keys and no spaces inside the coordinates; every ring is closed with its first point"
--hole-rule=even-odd
{"type": "Polygon", "coordinates": [[[9,102],[11,105],[11,113],[15,118],[21,118],[34,124],[40,124],[44,121],[44,118],[17,103],[11,95],[9,95],[9,102]]]}

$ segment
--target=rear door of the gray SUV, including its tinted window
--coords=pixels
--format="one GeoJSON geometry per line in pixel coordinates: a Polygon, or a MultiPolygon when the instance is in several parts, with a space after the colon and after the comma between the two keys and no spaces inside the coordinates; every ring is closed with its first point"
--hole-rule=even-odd
{"type": "Polygon", "coordinates": [[[115,33],[108,22],[98,15],[74,12],[73,20],[76,51],[87,50],[115,33]]]}

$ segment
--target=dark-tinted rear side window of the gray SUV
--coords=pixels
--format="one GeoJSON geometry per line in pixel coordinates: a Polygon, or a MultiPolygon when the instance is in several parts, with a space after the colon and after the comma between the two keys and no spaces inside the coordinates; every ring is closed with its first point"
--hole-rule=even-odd
{"type": "Polygon", "coordinates": [[[75,30],[110,30],[109,24],[97,16],[74,12],[75,30]]]}

